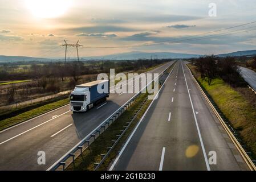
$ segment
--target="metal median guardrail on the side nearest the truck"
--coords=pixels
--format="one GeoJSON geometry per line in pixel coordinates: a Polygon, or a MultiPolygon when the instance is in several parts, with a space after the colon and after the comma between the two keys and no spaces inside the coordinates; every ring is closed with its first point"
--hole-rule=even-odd
{"type": "MultiPolygon", "coordinates": [[[[173,63],[172,65],[174,65],[175,63],[173,63]]],[[[161,77],[162,75],[164,75],[164,73],[170,68],[172,67],[172,65],[170,65],[168,68],[166,68],[164,71],[162,71],[160,73],[160,75],[158,77],[156,77],[154,80],[152,80],[151,82],[148,83],[148,85],[152,84],[152,82],[154,82],[157,78],[161,77]]],[[[129,101],[127,101],[123,106],[121,106],[119,109],[117,109],[113,114],[111,114],[107,119],[105,119],[105,121],[103,121],[98,127],[96,127],[96,129],[94,129],[93,131],[91,131],[91,133],[89,135],[87,135],[87,137],[85,137],[83,140],[81,140],[81,142],[79,142],[78,144],[76,144],[75,147],[73,147],[70,151],[67,152],[67,154],[65,154],[61,159],[59,159],[55,164],[53,164],[50,168],[47,169],[47,171],[55,171],[56,169],[58,169],[59,167],[62,167],[62,169],[64,170],[66,168],[67,165],[67,160],[72,158],[71,163],[74,163],[75,158],[78,157],[79,155],[82,154],[82,152],[84,150],[86,150],[86,148],[88,148],[90,146],[91,143],[93,143],[95,141],[95,139],[97,137],[99,137],[100,134],[102,134],[113,122],[115,122],[115,120],[124,113],[125,110],[128,109],[129,106],[131,106],[133,104],[133,102],[135,102],[135,100],[137,98],[139,98],[139,96],[141,95],[141,93],[147,89],[146,85],[143,89],[140,90],[140,92],[136,93],[135,96],[133,96],[129,101]],[[80,152],[78,152],[80,151],[80,152]]]]}

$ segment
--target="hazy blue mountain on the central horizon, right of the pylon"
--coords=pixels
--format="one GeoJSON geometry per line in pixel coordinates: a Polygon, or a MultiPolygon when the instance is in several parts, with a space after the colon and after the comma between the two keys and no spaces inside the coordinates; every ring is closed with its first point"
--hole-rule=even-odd
{"type": "Polygon", "coordinates": [[[201,55],[173,52],[126,52],[106,56],[82,57],[84,60],[133,60],[133,59],[184,59],[201,55]]]}

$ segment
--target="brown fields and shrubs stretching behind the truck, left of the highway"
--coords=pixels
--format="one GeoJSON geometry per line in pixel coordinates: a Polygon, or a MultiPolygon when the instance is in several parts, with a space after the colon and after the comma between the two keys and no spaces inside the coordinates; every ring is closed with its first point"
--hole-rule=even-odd
{"type": "Polygon", "coordinates": [[[75,85],[96,80],[99,73],[109,73],[110,68],[115,68],[116,73],[128,73],[148,70],[166,61],[169,60],[0,64],[0,107],[71,90],[75,85]]]}

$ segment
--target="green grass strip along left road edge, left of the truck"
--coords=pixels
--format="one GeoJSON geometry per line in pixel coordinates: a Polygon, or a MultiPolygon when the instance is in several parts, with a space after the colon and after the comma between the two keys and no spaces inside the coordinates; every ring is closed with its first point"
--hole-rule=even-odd
{"type": "Polygon", "coordinates": [[[52,102],[51,104],[47,104],[44,106],[40,106],[36,109],[32,109],[30,111],[26,111],[25,113],[16,115],[15,117],[7,118],[2,121],[0,121],[0,130],[5,129],[6,127],[9,127],[11,125],[15,125],[17,123],[26,121],[27,119],[33,118],[39,114],[43,114],[47,111],[50,111],[52,109],[56,109],[60,106],[66,105],[70,102],[69,98],[66,98],[64,100],[60,100],[57,102],[52,102]]]}

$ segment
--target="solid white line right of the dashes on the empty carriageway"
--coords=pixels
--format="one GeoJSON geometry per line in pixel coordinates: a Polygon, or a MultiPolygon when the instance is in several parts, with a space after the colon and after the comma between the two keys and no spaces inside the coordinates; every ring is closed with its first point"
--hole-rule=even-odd
{"type": "Polygon", "coordinates": [[[208,163],[208,158],[207,158],[207,155],[206,155],[206,152],[205,152],[204,142],[203,142],[203,140],[202,140],[201,132],[200,132],[200,129],[199,129],[199,126],[198,126],[196,113],[195,113],[195,111],[194,111],[194,106],[193,106],[192,98],[191,98],[191,96],[190,96],[189,87],[188,87],[188,82],[186,81],[186,76],[185,76],[185,72],[184,72],[184,68],[183,68],[182,63],[181,63],[181,66],[182,66],[182,71],[183,71],[183,74],[184,74],[184,77],[185,77],[186,88],[188,89],[188,93],[189,93],[189,100],[190,100],[190,104],[191,104],[192,110],[193,110],[194,121],[196,122],[196,126],[197,126],[197,133],[198,133],[198,136],[199,136],[199,139],[200,139],[200,143],[201,143],[201,147],[202,147],[202,152],[203,152],[204,158],[205,158],[205,164],[206,164],[207,170],[210,171],[210,166],[209,166],[209,163],[208,163]]]}

